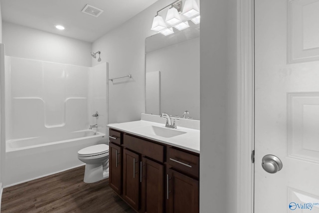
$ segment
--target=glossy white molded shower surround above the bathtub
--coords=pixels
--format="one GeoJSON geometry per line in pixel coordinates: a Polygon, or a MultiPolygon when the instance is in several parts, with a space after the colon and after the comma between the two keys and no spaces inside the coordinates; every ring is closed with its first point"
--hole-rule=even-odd
{"type": "Polygon", "coordinates": [[[89,68],[6,56],[5,66],[6,140],[84,130],[99,110],[100,126],[106,124],[106,63],[89,68]]]}

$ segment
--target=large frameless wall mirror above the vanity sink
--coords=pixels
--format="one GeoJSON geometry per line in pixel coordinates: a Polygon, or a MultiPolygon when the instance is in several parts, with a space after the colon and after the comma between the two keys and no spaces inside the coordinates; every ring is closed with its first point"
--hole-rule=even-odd
{"type": "Polygon", "coordinates": [[[146,38],[146,113],[199,120],[199,24],[146,38]]]}

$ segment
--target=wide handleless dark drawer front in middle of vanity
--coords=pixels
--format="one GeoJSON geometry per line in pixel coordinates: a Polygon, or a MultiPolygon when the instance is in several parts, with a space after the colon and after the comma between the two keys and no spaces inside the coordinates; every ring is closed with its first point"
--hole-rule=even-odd
{"type": "Polygon", "coordinates": [[[154,160],[164,162],[164,146],[162,145],[126,134],[124,135],[123,145],[154,160]]]}

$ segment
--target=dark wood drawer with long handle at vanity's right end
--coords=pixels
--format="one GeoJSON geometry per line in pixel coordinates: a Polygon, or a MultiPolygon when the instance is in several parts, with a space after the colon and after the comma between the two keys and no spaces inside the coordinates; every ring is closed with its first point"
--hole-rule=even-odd
{"type": "Polygon", "coordinates": [[[169,147],[167,163],[180,171],[199,177],[199,156],[169,147]]]}

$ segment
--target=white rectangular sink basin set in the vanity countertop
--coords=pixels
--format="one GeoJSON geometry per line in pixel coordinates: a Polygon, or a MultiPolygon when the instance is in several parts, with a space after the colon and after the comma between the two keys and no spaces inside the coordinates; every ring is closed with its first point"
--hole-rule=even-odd
{"type": "Polygon", "coordinates": [[[167,127],[158,127],[158,126],[144,126],[144,127],[135,128],[134,130],[139,133],[151,134],[151,135],[156,135],[156,136],[160,136],[164,138],[171,138],[171,137],[175,137],[175,136],[186,133],[183,131],[169,129],[167,127]]]}

